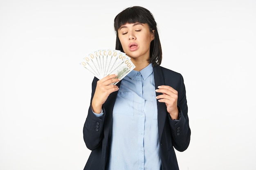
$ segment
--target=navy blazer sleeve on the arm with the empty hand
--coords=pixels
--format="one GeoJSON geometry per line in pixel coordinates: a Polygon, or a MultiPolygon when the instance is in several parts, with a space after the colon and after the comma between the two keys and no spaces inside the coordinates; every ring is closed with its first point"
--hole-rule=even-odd
{"type": "Polygon", "coordinates": [[[171,120],[169,124],[171,127],[172,143],[176,150],[184,151],[188,148],[190,142],[191,130],[189,127],[188,106],[186,100],[186,89],[184,80],[180,74],[180,85],[177,87],[178,103],[180,120],[171,120]]]}

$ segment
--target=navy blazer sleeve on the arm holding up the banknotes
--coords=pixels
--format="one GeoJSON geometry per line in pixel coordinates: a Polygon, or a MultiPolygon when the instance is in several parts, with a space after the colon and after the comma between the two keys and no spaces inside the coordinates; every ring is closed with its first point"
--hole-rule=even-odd
{"type": "MultiPolygon", "coordinates": [[[[95,78],[92,81],[92,96],[90,107],[88,109],[88,115],[85,120],[85,124],[83,126],[83,139],[85,145],[88,149],[94,150],[101,146],[103,139],[103,123],[105,114],[103,116],[97,117],[94,115],[92,111],[92,97],[94,96],[94,92],[96,89],[97,81],[99,79],[95,78]]],[[[103,113],[105,110],[103,109],[103,113]]]]}

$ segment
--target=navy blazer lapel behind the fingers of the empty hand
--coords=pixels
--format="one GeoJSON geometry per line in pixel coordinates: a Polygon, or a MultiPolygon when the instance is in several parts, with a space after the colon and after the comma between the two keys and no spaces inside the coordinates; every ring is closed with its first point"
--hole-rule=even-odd
{"type": "MultiPolygon", "coordinates": [[[[159,85],[165,85],[164,83],[164,75],[162,72],[162,69],[160,66],[155,66],[154,68],[154,78],[155,78],[155,89],[158,89],[157,87],[159,85]]],[[[161,93],[156,92],[156,96],[158,96],[161,93]]],[[[159,135],[159,141],[161,141],[162,132],[164,129],[164,122],[166,120],[166,105],[162,102],[157,102],[157,122],[158,122],[158,135],[159,135]]]]}

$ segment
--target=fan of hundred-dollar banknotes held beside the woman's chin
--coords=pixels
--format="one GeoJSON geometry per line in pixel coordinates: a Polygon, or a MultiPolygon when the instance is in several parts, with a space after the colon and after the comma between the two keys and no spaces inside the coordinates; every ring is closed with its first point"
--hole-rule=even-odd
{"type": "Polygon", "coordinates": [[[88,54],[81,61],[81,65],[99,79],[110,74],[118,74],[117,78],[123,79],[135,68],[124,52],[108,49],[88,54]]]}

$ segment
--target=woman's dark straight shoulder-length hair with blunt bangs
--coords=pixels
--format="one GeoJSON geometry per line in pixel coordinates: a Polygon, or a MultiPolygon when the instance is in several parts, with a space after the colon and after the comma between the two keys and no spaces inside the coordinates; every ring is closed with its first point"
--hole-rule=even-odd
{"type": "Polygon", "coordinates": [[[162,61],[162,48],[159,39],[159,35],[157,32],[157,23],[155,22],[155,18],[152,13],[143,7],[129,7],[124,11],[119,13],[114,20],[114,27],[117,35],[116,39],[116,50],[121,50],[124,52],[121,42],[118,37],[118,29],[128,23],[136,23],[139,22],[141,24],[148,24],[150,32],[154,34],[154,40],[150,43],[150,63],[154,65],[160,65],[162,61]],[[155,30],[155,32],[153,32],[155,30]]]}

